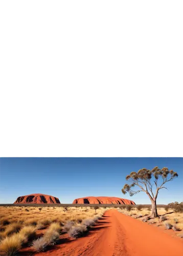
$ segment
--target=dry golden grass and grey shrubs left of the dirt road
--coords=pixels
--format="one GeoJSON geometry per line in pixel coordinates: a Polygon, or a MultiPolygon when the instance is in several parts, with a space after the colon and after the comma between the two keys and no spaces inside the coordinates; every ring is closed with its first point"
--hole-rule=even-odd
{"type": "Polygon", "coordinates": [[[100,219],[108,208],[102,207],[24,207],[0,206],[0,252],[11,256],[22,245],[41,252],[55,245],[60,235],[77,239],[100,219]],[[37,232],[43,229],[43,236],[37,232]]]}

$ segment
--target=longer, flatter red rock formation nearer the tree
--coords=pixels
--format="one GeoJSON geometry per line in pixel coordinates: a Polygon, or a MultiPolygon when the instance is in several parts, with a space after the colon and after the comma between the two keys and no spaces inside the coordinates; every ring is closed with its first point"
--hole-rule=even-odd
{"type": "Polygon", "coordinates": [[[133,201],[119,197],[82,197],[73,201],[73,204],[135,204],[133,201]]]}

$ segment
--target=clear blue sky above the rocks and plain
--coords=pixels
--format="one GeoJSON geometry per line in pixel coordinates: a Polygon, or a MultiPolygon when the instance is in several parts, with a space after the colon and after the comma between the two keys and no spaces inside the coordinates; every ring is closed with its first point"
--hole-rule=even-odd
{"type": "Polygon", "coordinates": [[[159,190],[157,204],[183,201],[183,157],[0,157],[0,203],[34,193],[58,197],[61,203],[88,196],[109,196],[150,204],[141,192],[133,197],[121,189],[126,175],[141,168],[168,167],[178,178],[159,190]]]}

